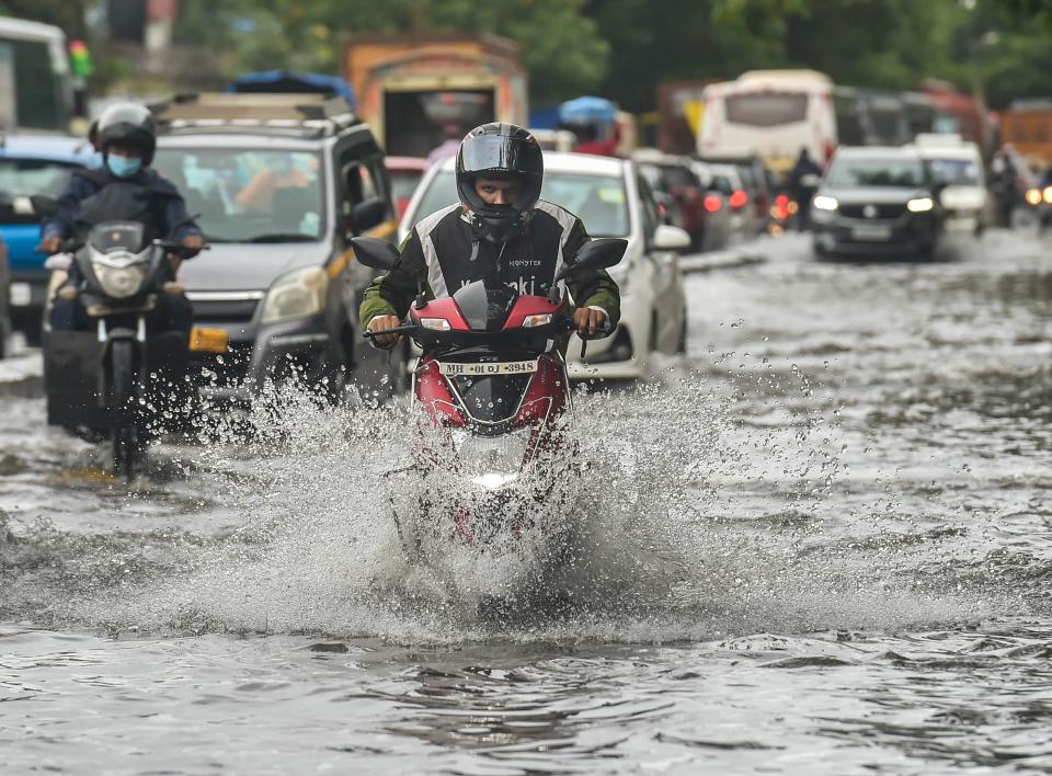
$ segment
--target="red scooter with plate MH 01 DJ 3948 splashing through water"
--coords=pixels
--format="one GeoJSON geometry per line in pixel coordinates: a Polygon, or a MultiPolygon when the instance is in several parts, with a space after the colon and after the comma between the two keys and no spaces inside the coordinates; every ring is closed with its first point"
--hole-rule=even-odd
{"type": "MultiPolygon", "coordinates": [[[[366,266],[390,270],[398,259],[387,241],[351,242],[366,266]]],[[[392,330],[412,336],[424,353],[411,370],[421,444],[408,468],[436,481],[412,518],[393,509],[411,560],[426,556],[428,533],[439,547],[451,537],[485,548],[531,526],[531,507],[551,493],[560,460],[572,457],[560,457],[571,444],[572,396],[558,343],[574,328],[562,281],[614,266],[626,248],[625,240],[592,240],[562,266],[548,296],[482,281],[439,299],[421,292],[408,322],[392,330]]]]}

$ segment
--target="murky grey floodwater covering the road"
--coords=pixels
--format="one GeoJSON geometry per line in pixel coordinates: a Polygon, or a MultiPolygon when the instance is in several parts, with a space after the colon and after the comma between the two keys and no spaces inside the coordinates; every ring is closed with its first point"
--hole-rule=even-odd
{"type": "Polygon", "coordinates": [[[0,363],[2,768],[1052,769],[1050,248],[693,275],[687,363],[431,569],[393,412],[276,397],[129,492],[0,363]]]}

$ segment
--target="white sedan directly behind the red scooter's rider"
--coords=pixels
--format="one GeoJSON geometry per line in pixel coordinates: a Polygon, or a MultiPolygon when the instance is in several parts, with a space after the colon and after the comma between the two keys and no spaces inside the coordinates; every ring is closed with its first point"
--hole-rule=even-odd
{"type": "MultiPolygon", "coordinates": [[[[399,228],[404,238],[421,218],[457,201],[454,160],[431,168],[416,189],[399,228]]],[[[541,198],[579,216],[593,237],[622,237],[628,250],[610,275],[621,290],[621,320],[613,335],[593,340],[582,362],[581,341],[571,338],[570,376],[631,379],[644,376],[653,351],[683,353],[687,307],[678,251],[690,238],[661,224],[658,205],[634,162],[583,153],[545,152],[541,198]]]]}

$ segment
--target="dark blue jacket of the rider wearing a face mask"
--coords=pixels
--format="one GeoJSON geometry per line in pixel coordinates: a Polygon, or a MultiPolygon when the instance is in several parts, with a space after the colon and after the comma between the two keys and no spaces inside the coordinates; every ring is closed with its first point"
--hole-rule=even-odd
{"type": "Polygon", "coordinates": [[[106,184],[114,181],[140,183],[158,196],[160,205],[158,215],[161,222],[157,227],[163,236],[171,236],[179,240],[187,235],[201,235],[201,228],[194,221],[186,221],[186,203],[183,202],[183,196],[179,193],[175,184],[156,170],[147,168],[132,178],[115,178],[106,169],[73,171],[69,176],[66,189],[58,196],[58,212],[44,225],[43,236],[45,238],[71,237],[80,203],[98,194],[106,184]],[[173,235],[172,227],[180,222],[183,222],[183,226],[176,229],[173,235]]]}

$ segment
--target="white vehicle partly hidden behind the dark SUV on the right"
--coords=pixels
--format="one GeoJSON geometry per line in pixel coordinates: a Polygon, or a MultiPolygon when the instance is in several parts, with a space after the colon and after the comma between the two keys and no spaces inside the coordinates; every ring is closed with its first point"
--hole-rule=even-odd
{"type": "Polygon", "coordinates": [[[979,146],[960,135],[918,135],[915,145],[936,186],[946,228],[981,235],[991,222],[986,174],[979,146]]]}

